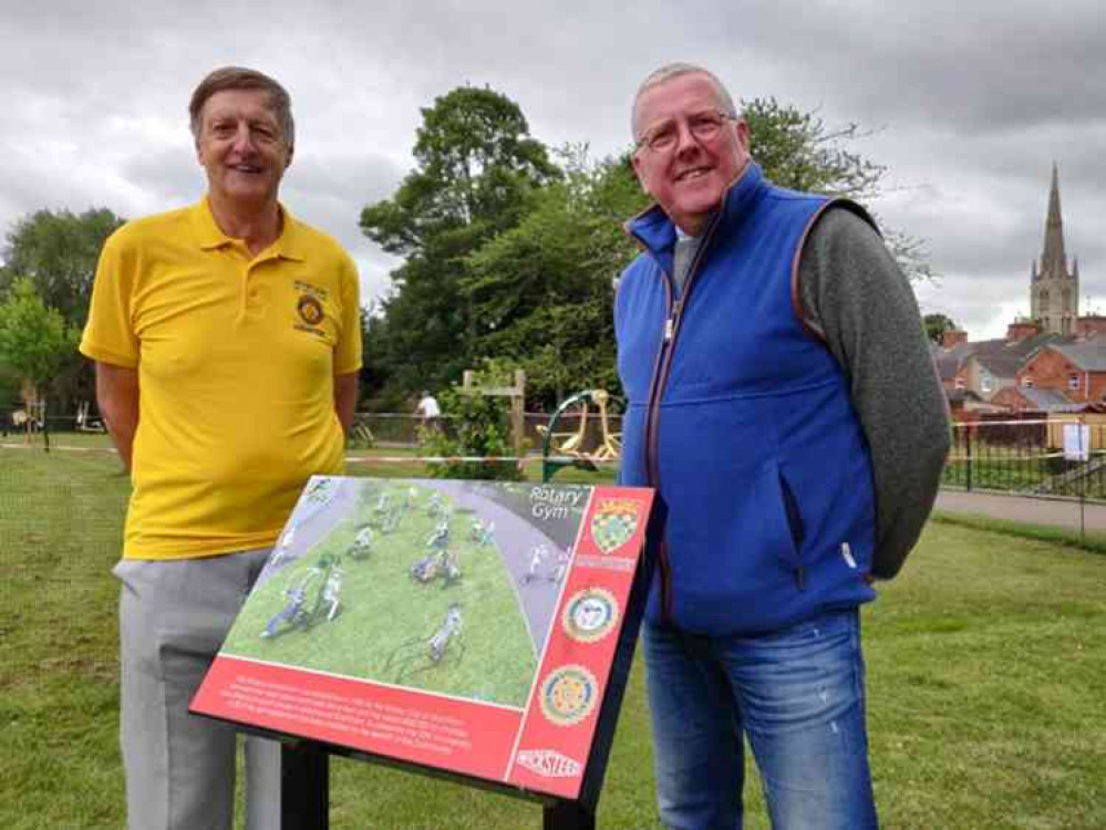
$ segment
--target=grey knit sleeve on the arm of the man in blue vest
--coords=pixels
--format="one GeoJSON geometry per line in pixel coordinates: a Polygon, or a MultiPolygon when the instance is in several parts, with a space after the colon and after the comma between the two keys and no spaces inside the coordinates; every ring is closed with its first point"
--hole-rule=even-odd
{"type": "Polygon", "coordinates": [[[830,207],[803,248],[807,324],[844,367],[871,452],[872,575],[890,579],[918,541],[949,452],[949,409],[913,291],[876,230],[830,207]]]}

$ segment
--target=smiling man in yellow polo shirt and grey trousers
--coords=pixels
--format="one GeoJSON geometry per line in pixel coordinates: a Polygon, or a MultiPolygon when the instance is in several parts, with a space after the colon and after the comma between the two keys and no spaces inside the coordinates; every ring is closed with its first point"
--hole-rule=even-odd
{"type": "MultiPolygon", "coordinates": [[[[132,830],[232,826],[235,733],[188,702],[312,474],[342,469],[358,274],[278,201],[287,91],[226,68],[189,104],[207,196],[104,246],[81,352],[133,492],[120,602],[132,830]]],[[[279,744],[247,740],[247,827],[279,823],[279,744]]]]}

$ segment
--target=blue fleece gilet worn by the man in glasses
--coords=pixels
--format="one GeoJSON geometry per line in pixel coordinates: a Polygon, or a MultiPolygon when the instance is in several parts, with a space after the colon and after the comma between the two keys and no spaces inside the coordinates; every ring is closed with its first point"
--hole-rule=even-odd
{"type": "Polygon", "coordinates": [[[763,633],[875,596],[867,444],[845,374],[793,301],[798,252],[827,204],[751,164],[679,303],[671,221],[654,208],[628,225],[644,252],[616,301],[620,481],[658,488],[654,622],[763,633]]]}

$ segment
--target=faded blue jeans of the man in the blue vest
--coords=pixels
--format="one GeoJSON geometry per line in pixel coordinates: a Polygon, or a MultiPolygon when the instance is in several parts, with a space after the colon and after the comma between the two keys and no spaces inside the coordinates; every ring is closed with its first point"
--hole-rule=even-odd
{"type": "Polygon", "coordinates": [[[642,633],[666,827],[741,830],[747,736],[774,830],[878,828],[857,611],[757,636],[642,633]]]}

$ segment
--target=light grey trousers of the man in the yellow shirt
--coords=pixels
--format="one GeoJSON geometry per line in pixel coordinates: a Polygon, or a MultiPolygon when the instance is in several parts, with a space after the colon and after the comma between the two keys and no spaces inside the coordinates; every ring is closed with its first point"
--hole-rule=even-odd
{"type": "MultiPolygon", "coordinates": [[[[122,560],[120,739],[130,830],[230,830],[237,733],[188,714],[269,549],[122,560]]],[[[280,826],[280,744],[246,739],[246,826],[280,826]]]]}

